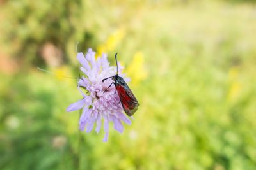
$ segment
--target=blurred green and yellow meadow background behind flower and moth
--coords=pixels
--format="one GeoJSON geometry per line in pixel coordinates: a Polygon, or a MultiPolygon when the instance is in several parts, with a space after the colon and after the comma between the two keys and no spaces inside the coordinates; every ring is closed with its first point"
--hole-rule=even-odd
{"type": "Polygon", "coordinates": [[[1,0],[0,169],[256,169],[255,6],[1,0]],[[140,102],[108,143],[65,110],[88,48],[119,53],[140,102]]]}

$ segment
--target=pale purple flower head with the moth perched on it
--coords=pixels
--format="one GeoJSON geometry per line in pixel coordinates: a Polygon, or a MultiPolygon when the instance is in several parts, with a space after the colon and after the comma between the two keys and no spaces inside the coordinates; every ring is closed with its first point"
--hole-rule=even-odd
{"type": "MultiPolygon", "coordinates": [[[[115,86],[109,85],[111,79],[102,82],[102,79],[116,74],[115,67],[109,67],[106,55],[95,59],[95,52],[90,48],[84,57],[83,53],[77,54],[77,60],[81,63],[81,71],[85,74],[79,78],[77,89],[81,92],[83,99],[76,103],[70,104],[67,111],[74,111],[83,108],[79,120],[81,131],[91,132],[94,124],[96,124],[96,132],[100,131],[103,123],[105,136],[103,141],[108,140],[109,122],[113,122],[114,129],[122,133],[124,127],[122,122],[131,124],[131,120],[123,113],[122,105],[118,94],[115,93],[115,86]],[[109,88],[108,88],[109,87],[109,88]],[[88,93],[84,94],[86,89],[88,93]],[[107,89],[107,90],[106,90],[107,89]]],[[[122,76],[122,67],[118,66],[118,74],[122,76]]]]}

